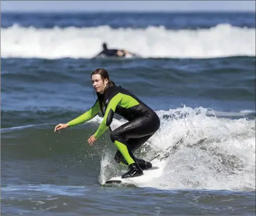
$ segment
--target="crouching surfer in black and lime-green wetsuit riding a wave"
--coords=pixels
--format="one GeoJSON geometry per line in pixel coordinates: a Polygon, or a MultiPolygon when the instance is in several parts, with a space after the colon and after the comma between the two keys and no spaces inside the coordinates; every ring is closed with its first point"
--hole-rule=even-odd
{"type": "Polygon", "coordinates": [[[96,140],[105,133],[113,120],[114,114],[119,114],[128,122],[111,130],[110,139],[118,148],[115,161],[128,165],[129,171],[122,175],[122,179],[143,175],[142,170],[152,167],[150,162],[134,157],[136,151],[143,143],[152,137],[160,127],[160,119],[156,112],[144,104],[133,93],[115,85],[110,80],[106,69],[97,68],[91,73],[92,86],[97,93],[97,100],[91,109],[67,124],[58,124],[57,130],[85,123],[94,118],[99,112],[104,119],[94,135],[87,140],[94,145],[96,140]],[[103,111],[105,107],[105,112],[103,111]]]}

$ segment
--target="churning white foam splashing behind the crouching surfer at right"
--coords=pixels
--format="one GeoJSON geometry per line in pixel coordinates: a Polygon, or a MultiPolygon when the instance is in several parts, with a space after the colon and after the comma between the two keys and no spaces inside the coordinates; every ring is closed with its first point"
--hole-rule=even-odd
{"type": "MultiPolygon", "coordinates": [[[[206,110],[184,106],[157,111],[161,127],[147,144],[161,152],[180,138],[183,142],[171,148],[171,156],[164,163],[153,161],[153,166],[161,166],[162,170],[156,171],[161,175],[141,176],[131,183],[164,189],[255,190],[255,120],[208,117],[206,110]],[[189,115],[184,119],[162,118],[177,112],[189,115]]],[[[124,122],[115,119],[111,126],[116,128],[124,122]]],[[[147,158],[152,153],[147,152],[147,158]]]]}

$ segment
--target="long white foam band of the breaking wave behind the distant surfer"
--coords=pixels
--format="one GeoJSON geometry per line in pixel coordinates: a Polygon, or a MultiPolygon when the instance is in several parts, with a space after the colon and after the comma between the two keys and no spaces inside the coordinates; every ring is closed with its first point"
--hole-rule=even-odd
{"type": "Polygon", "coordinates": [[[128,49],[144,58],[215,58],[255,56],[255,29],[220,24],[211,29],[111,29],[109,26],[36,29],[13,25],[1,28],[1,57],[91,58],[110,48],[128,49]]]}

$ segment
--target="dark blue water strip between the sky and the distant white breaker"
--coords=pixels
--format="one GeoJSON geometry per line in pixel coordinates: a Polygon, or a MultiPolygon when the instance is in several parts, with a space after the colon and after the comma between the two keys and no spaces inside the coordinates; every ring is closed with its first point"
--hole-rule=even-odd
{"type": "Polygon", "coordinates": [[[165,26],[166,29],[209,29],[218,24],[255,28],[253,12],[216,13],[2,13],[1,26],[6,28],[14,23],[38,28],[94,27],[108,25],[112,29],[165,26]],[[31,18],[32,17],[32,18],[31,18]]]}

